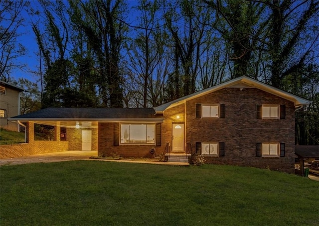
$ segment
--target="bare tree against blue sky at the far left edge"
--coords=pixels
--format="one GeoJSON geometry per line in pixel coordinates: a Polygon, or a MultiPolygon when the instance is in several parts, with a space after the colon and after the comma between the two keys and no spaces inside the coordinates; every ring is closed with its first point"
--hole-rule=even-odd
{"type": "Polygon", "coordinates": [[[0,79],[10,80],[10,72],[14,68],[22,68],[17,59],[25,54],[25,47],[18,43],[22,34],[18,29],[23,26],[22,10],[28,5],[24,0],[0,1],[0,79]]]}

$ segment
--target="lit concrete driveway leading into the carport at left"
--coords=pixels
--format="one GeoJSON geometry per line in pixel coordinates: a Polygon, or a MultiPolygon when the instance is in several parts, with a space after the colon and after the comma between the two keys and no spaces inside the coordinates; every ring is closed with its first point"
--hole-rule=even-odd
{"type": "Polygon", "coordinates": [[[97,151],[63,151],[49,154],[30,155],[17,158],[0,159],[2,165],[20,165],[38,162],[63,162],[72,160],[88,160],[89,157],[97,156],[97,151]]]}

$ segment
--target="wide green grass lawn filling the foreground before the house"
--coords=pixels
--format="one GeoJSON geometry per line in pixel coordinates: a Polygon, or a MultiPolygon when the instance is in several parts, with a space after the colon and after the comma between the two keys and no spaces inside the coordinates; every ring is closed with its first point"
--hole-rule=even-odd
{"type": "Polygon", "coordinates": [[[318,226],[319,182],[264,169],[71,161],[0,167],[0,225],[318,226]]]}

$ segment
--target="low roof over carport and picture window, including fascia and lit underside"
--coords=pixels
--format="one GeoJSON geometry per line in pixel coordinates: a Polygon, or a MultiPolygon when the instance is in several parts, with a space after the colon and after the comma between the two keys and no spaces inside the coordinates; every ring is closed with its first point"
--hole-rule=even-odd
{"type": "Polygon", "coordinates": [[[97,125],[97,122],[163,122],[154,109],[115,109],[115,108],[47,108],[32,113],[17,115],[8,120],[33,121],[40,124],[74,126],[81,124],[97,125]],[[85,122],[85,123],[84,123],[85,122]]]}

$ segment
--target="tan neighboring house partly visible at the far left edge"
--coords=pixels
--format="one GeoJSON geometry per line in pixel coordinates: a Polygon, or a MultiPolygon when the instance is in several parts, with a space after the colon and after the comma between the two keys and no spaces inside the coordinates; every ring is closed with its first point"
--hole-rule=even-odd
{"type": "Polygon", "coordinates": [[[0,81],[0,127],[18,131],[19,125],[7,118],[20,114],[20,92],[23,89],[0,81]]]}

